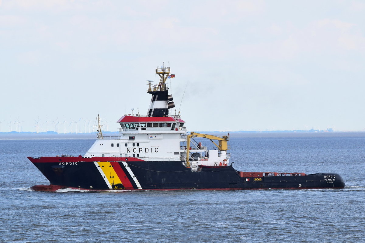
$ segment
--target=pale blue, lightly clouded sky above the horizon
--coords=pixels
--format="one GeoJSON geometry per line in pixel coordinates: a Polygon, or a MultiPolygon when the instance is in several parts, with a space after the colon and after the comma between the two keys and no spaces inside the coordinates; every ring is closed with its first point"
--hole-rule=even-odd
{"type": "Polygon", "coordinates": [[[163,64],[189,131],[365,131],[365,1],[0,0],[1,132],[116,131],[163,64]]]}

